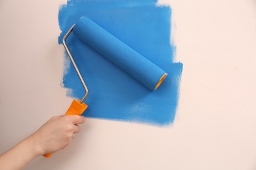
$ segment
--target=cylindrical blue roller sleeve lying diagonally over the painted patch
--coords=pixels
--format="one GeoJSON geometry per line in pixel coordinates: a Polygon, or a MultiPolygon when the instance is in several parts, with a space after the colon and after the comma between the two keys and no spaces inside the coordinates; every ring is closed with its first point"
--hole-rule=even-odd
{"type": "Polygon", "coordinates": [[[160,78],[165,75],[165,71],[160,67],[87,17],[79,19],[74,26],[73,33],[150,90],[154,90],[160,78]]]}

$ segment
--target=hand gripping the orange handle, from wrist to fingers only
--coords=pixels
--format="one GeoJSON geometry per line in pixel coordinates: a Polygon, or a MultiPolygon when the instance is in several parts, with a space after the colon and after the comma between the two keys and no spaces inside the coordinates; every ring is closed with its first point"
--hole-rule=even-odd
{"type": "Polygon", "coordinates": [[[83,122],[83,116],[75,115],[54,116],[48,120],[30,136],[37,144],[38,154],[53,153],[68,146],[80,131],[78,124],[83,122]]]}

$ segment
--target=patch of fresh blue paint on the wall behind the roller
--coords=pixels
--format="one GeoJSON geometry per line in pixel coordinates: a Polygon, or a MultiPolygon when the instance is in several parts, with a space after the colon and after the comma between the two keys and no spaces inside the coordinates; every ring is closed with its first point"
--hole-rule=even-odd
{"type": "MultiPolygon", "coordinates": [[[[156,3],[153,0],[69,0],[60,7],[59,43],[81,16],[87,16],[168,73],[160,88],[152,92],[71,34],[67,44],[89,88],[85,101],[89,108],[83,116],[156,126],[173,122],[182,63],[173,63],[171,8],[156,3]]],[[[80,99],[85,93],[73,66],[66,67],[63,85],[72,90],[68,94],[72,97],[80,99]]]]}

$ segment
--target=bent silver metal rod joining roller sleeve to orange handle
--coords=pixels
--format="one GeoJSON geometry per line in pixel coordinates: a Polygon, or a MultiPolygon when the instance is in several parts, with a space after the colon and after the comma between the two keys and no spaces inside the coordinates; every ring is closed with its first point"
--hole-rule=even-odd
{"type": "Polygon", "coordinates": [[[74,67],[75,67],[75,71],[76,71],[77,75],[79,76],[79,79],[80,79],[81,83],[83,84],[83,88],[85,89],[85,95],[83,96],[83,98],[82,98],[81,101],[80,101],[80,103],[82,104],[83,101],[85,101],[85,99],[87,98],[89,91],[88,91],[88,88],[87,88],[87,86],[86,86],[86,84],[85,84],[85,81],[83,80],[83,77],[82,77],[81,74],[80,74],[79,69],[77,68],[77,65],[75,64],[75,61],[74,61],[74,59],[73,59],[73,57],[72,57],[72,55],[71,55],[71,53],[70,53],[70,50],[68,50],[68,46],[66,45],[66,39],[68,39],[68,36],[69,36],[70,33],[73,31],[74,26],[75,26],[75,24],[72,25],[72,27],[70,28],[70,30],[68,30],[68,32],[66,33],[66,35],[65,35],[64,38],[62,39],[62,43],[63,43],[64,48],[66,49],[66,52],[68,53],[68,57],[70,58],[70,60],[72,61],[72,64],[73,64],[74,67]]]}

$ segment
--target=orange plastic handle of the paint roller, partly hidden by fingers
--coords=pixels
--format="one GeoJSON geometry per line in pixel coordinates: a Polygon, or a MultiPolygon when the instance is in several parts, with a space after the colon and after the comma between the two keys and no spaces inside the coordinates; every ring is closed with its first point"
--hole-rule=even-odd
{"type": "MultiPolygon", "coordinates": [[[[65,115],[81,115],[85,109],[87,109],[88,105],[86,105],[85,103],[81,104],[80,100],[77,101],[74,99],[74,101],[72,101],[70,108],[68,108],[68,111],[66,112],[65,115]]],[[[53,153],[49,153],[49,154],[44,154],[43,156],[45,158],[50,158],[53,155],[53,153]]]]}

